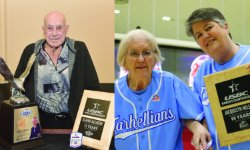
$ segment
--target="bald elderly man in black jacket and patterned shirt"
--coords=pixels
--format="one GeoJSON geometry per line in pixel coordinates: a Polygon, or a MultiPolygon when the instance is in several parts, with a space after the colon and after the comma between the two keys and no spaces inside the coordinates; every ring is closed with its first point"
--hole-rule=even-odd
{"type": "Polygon", "coordinates": [[[100,88],[98,76],[85,43],[66,37],[69,26],[62,13],[48,13],[42,29],[45,39],[24,49],[15,77],[34,53],[25,95],[37,102],[42,128],[72,129],[84,89],[100,88]]]}

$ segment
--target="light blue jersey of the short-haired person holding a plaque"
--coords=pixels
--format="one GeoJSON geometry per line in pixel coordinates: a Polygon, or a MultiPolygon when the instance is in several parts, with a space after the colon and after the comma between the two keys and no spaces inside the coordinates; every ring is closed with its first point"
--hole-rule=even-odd
{"type": "Polygon", "coordinates": [[[212,58],[205,61],[199,68],[195,78],[193,91],[198,95],[203,105],[203,110],[208,123],[209,132],[213,140],[213,149],[217,150],[249,150],[250,142],[243,142],[240,144],[234,144],[231,146],[220,147],[212,110],[210,107],[209,99],[203,77],[209,74],[220,72],[229,68],[233,68],[242,64],[250,62],[250,46],[240,46],[240,49],[235,56],[224,64],[216,63],[212,58]]]}

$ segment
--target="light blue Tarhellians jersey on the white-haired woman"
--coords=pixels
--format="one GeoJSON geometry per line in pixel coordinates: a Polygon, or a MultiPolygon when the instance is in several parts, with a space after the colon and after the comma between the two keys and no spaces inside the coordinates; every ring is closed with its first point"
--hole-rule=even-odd
{"type": "Polygon", "coordinates": [[[115,85],[117,150],[183,150],[182,119],[201,120],[200,101],[179,78],[153,71],[148,87],[135,92],[127,76],[115,85]]]}

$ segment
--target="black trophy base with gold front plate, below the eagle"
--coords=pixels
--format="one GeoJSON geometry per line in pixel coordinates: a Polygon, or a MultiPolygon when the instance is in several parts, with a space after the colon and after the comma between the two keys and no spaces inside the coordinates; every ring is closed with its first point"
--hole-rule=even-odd
{"type": "Polygon", "coordinates": [[[36,103],[15,105],[10,100],[3,101],[0,109],[0,145],[8,150],[19,150],[44,144],[42,133],[39,134],[41,129],[33,127],[34,118],[40,124],[36,103]],[[34,134],[34,130],[37,130],[37,134],[34,134]]]}

